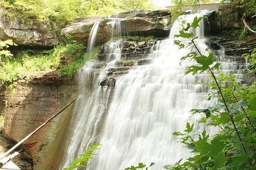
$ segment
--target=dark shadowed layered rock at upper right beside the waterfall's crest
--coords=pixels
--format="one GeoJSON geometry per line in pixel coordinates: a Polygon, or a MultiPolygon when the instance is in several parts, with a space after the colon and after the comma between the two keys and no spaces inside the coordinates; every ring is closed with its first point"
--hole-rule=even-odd
{"type": "Polygon", "coordinates": [[[241,56],[255,48],[255,36],[239,40],[236,36],[230,35],[232,30],[244,28],[243,9],[237,8],[238,5],[223,4],[218,10],[211,10],[206,15],[209,24],[209,41],[225,48],[225,54],[228,56],[241,56]]]}

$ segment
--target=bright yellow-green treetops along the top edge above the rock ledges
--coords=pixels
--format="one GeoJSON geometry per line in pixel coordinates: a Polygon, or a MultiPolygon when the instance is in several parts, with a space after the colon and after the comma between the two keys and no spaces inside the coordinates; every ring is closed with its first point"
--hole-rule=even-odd
{"type": "Polygon", "coordinates": [[[58,28],[63,28],[76,17],[92,15],[109,15],[125,10],[150,9],[148,0],[8,0],[1,1],[0,6],[13,12],[24,21],[54,21],[58,28]]]}

